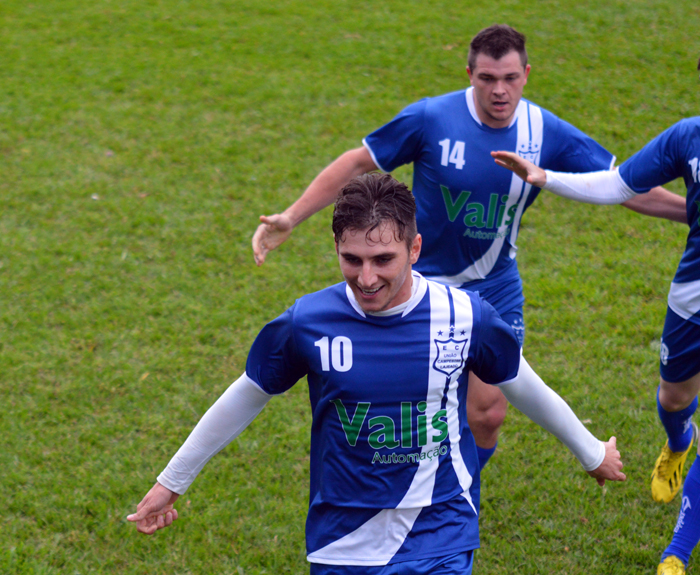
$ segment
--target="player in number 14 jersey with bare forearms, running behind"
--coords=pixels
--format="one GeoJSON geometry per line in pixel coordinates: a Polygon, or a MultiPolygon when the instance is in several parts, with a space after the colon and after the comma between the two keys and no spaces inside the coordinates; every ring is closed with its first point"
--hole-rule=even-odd
{"type": "MultiPolygon", "coordinates": [[[[413,163],[418,230],[423,236],[416,269],[445,285],[478,291],[525,337],[524,297],[515,256],[524,211],[539,189],[493,165],[491,150],[511,150],[546,168],[570,172],[609,169],[615,158],[550,112],[522,99],[530,65],[525,37],[491,26],[471,42],[467,90],[426,98],[326,167],[281,214],[261,216],[253,236],[258,265],[292,229],[333,203],[354,176],[391,172],[413,163]]],[[[682,198],[663,189],[633,198],[627,207],[682,219],[682,198]]],[[[496,449],[507,402],[476,376],[469,384],[468,419],[485,465],[496,449]]]]}

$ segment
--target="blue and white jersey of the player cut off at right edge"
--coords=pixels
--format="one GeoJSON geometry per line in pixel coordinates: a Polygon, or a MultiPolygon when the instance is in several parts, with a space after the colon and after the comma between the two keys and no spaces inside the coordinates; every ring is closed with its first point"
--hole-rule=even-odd
{"type": "Polygon", "coordinates": [[[683,178],[690,231],[668,306],[700,325],[700,117],[681,120],[659,134],[620,166],[620,176],[635,192],[683,178]]]}

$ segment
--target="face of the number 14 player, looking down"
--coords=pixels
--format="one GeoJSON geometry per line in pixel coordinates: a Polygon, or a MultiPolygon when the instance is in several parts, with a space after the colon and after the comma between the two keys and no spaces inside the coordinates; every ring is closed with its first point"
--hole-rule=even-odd
{"type": "Polygon", "coordinates": [[[479,119],[491,128],[507,128],[527,84],[530,65],[523,67],[515,50],[494,60],[486,54],[476,57],[474,69],[467,74],[474,86],[474,100],[479,119]]]}

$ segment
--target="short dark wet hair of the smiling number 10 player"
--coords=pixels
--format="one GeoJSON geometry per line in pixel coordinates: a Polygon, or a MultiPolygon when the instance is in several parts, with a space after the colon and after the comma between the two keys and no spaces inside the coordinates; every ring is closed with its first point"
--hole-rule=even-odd
{"type": "Polygon", "coordinates": [[[353,178],[340,191],[333,209],[333,236],[343,239],[346,230],[367,230],[394,223],[397,241],[411,249],[418,234],[416,200],[406,184],[389,174],[371,173],[353,178]]]}

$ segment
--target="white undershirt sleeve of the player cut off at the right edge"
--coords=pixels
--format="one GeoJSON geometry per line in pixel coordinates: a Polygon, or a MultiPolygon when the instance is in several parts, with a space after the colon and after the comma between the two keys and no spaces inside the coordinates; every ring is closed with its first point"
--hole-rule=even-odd
{"type": "Polygon", "coordinates": [[[562,198],[586,204],[621,204],[637,195],[622,179],[619,170],[582,174],[545,170],[544,189],[562,198]]]}

